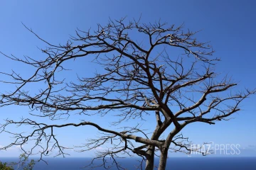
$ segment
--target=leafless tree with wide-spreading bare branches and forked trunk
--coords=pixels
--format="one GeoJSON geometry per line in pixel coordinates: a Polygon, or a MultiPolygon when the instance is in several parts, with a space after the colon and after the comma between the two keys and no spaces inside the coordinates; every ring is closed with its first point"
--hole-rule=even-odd
{"type": "Polygon", "coordinates": [[[28,118],[6,119],[0,132],[14,135],[15,140],[1,149],[20,145],[24,152],[32,154],[39,147],[41,158],[58,149],[64,156],[67,147],[60,144],[54,129],[92,126],[100,131],[100,136],[78,147],[84,152],[106,143],[111,145],[110,149],[97,153],[95,159],[102,160],[99,166],[108,169],[105,160],[110,157],[118,169],[123,169],[116,158],[136,154],[146,161],[145,169],[154,169],[155,156],[160,157],[158,169],[166,169],[168,152],[193,150],[181,134],[184,127],[196,122],[213,125],[216,121],[228,120],[227,117],[240,111],[240,103],[245,98],[255,94],[255,90],[248,89],[234,93],[232,89],[237,84],[215,73],[214,66],[219,60],[212,57],[208,42],[198,42],[194,38],[197,32],[183,30],[182,26],[168,26],[160,21],[142,24],[122,18],[110,20],[107,26],[99,24],[95,31],[77,30],[65,45],[52,45],[28,30],[46,42],[48,47],[41,50],[46,57],[36,60],[5,55],[34,67],[35,72],[28,78],[17,72],[1,73],[13,79],[4,83],[16,84],[14,91],[1,94],[1,107],[28,106],[32,115],[52,120],[73,113],[85,119],[86,115],[112,113],[119,117],[112,125],[122,125],[124,121],[133,123],[122,130],[115,126],[110,130],[86,120],[78,124],[48,125],[28,118]],[[78,81],[58,79],[60,71],[66,69],[65,63],[79,57],[92,57],[92,62],[105,72],[95,73],[93,77],[78,75],[78,81]],[[40,89],[31,94],[26,88],[28,84],[38,84],[40,89]],[[142,129],[140,122],[152,114],[155,128],[149,133],[142,129]],[[8,130],[11,125],[30,125],[31,132],[28,135],[11,132],[8,130]],[[164,133],[167,136],[164,137],[164,133]],[[24,149],[28,143],[33,146],[29,152],[24,149]]]}

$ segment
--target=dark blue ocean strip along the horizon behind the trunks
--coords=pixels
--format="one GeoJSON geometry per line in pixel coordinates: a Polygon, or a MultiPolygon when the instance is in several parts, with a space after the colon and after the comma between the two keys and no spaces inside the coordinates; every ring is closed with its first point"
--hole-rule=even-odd
{"type": "MultiPolygon", "coordinates": [[[[45,162],[37,162],[33,170],[65,170],[82,169],[90,158],[48,158],[45,162]]],[[[136,158],[119,159],[125,169],[136,169],[136,158]]],[[[1,162],[17,161],[15,158],[0,157],[1,162]]],[[[157,162],[157,160],[156,160],[157,162]]],[[[87,168],[88,169],[88,168],[87,168]]],[[[102,167],[96,168],[103,169],[102,167]]],[[[113,170],[117,169],[115,167],[113,170]]],[[[171,157],[167,168],[170,170],[256,170],[256,157],[171,157]]]]}

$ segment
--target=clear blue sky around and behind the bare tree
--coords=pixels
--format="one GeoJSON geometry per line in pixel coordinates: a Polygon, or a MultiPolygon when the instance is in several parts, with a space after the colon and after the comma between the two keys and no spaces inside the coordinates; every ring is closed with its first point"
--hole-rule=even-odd
{"type": "MultiPolygon", "coordinates": [[[[210,41],[215,57],[220,57],[218,72],[232,75],[240,82],[240,89],[256,87],[256,2],[250,1],[7,1],[0,2],[0,51],[18,57],[29,55],[38,57],[42,53],[38,47],[45,47],[35,36],[21,24],[32,28],[38,35],[51,43],[65,43],[70,35],[75,35],[75,29],[87,30],[95,28],[97,23],[107,23],[109,18],[127,19],[139,18],[142,21],[161,21],[180,25],[191,30],[202,30],[198,38],[210,41]]],[[[29,69],[21,68],[0,55],[0,72],[19,71],[29,75],[29,69]]],[[[87,69],[87,72],[97,68],[85,67],[84,63],[76,63],[76,67],[87,69]],[[89,69],[89,70],[88,70],[89,69]]],[[[67,74],[71,77],[71,74],[67,74]]],[[[0,75],[0,79],[1,75],[0,75]]],[[[9,91],[9,86],[1,86],[1,91],[9,91]]],[[[250,97],[242,104],[242,111],[233,115],[233,120],[221,121],[216,125],[196,123],[183,130],[183,135],[190,137],[195,143],[215,142],[216,144],[239,144],[242,154],[256,156],[256,98],[250,97]]],[[[21,118],[28,110],[22,107],[0,108],[0,122],[4,118],[21,118]]],[[[25,117],[25,116],[24,116],[25,117]]],[[[93,120],[93,118],[92,118],[93,120]]],[[[76,121],[75,118],[66,123],[76,121]]],[[[53,123],[53,122],[48,122],[53,123]]],[[[107,123],[106,128],[111,128],[107,123]]],[[[66,129],[60,134],[60,140],[66,144],[79,144],[87,136],[92,135],[91,128],[66,129]],[[68,136],[72,136],[67,137],[68,136]]],[[[9,142],[8,137],[0,136],[0,145],[9,142]]],[[[18,148],[0,151],[0,157],[16,156],[18,148]]],[[[89,154],[72,153],[73,157],[89,154]]],[[[174,154],[175,155],[175,154],[174,154]]]]}

